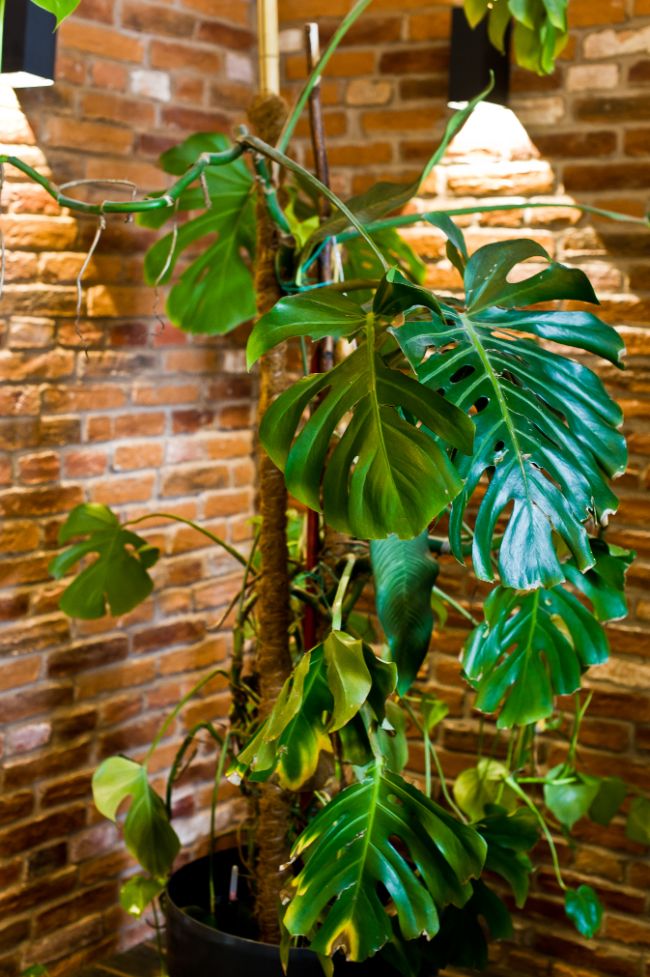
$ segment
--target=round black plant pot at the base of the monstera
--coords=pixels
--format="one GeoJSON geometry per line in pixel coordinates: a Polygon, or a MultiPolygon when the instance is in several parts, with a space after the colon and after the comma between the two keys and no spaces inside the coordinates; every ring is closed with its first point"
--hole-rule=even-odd
{"type": "MultiPolygon", "coordinates": [[[[242,911],[237,914],[228,902],[235,864],[239,859],[232,849],[214,856],[216,915],[223,930],[200,920],[209,905],[209,857],[190,862],[172,875],[166,898],[169,977],[284,977],[279,948],[250,937],[254,922],[244,908],[250,901],[244,878],[240,878],[238,891],[242,911]]],[[[334,973],[335,977],[396,977],[396,971],[377,958],[364,963],[341,958],[335,962],[334,973]]],[[[316,954],[291,950],[288,977],[323,977],[316,954]]]]}

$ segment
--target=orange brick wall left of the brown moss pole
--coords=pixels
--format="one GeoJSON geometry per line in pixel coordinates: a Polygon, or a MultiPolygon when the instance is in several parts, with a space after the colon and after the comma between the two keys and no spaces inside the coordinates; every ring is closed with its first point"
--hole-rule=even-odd
{"type": "MultiPolygon", "coordinates": [[[[57,182],[162,186],[153,165],[161,150],[241,117],[253,77],[249,15],[245,0],[82,0],[60,31],[55,87],[19,100],[0,92],[2,151],[57,182]]],[[[90,776],[104,756],[141,755],[179,693],[225,659],[227,638],[209,628],[238,579],[236,564],[192,530],[150,524],[164,554],[154,596],[125,620],[71,623],[47,572],[58,526],[91,500],[122,514],[197,517],[245,544],[254,466],[241,337],[191,342],[163,328],[141,285],[148,235],[119,219],[88,268],[76,322],[75,278],[95,222],[59,212],[16,171],[7,168],[6,180],[0,974],[16,977],[36,961],[72,973],[142,936],[117,905],[129,860],[89,803],[90,776]]],[[[186,722],[225,708],[214,685],[186,722]]],[[[163,742],[161,775],[184,729],[163,742]]],[[[211,761],[199,754],[195,771],[178,790],[190,842],[207,831],[211,761]]]]}

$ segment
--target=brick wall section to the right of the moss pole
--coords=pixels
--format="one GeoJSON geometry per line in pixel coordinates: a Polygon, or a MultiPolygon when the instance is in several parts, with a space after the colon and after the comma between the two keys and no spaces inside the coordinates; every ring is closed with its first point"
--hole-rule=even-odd
{"type": "MultiPolygon", "coordinates": [[[[322,0],[280,0],[288,92],[295,91],[304,72],[302,20],[318,18],[327,37],[348,6],[347,0],[329,0],[325,18],[319,16],[325,9],[322,0]]],[[[524,203],[574,199],[635,215],[645,212],[650,195],[650,5],[647,0],[571,0],[569,13],[571,43],[556,75],[539,79],[514,71],[511,105],[534,146],[501,126],[493,131],[491,145],[478,145],[480,152],[459,140],[417,207],[464,206],[476,199],[498,203],[503,195],[515,195],[524,203]]],[[[378,178],[412,179],[430,155],[446,117],[449,21],[448,3],[375,0],[333,58],[323,96],[337,190],[360,191],[378,178]]],[[[309,159],[304,138],[299,151],[309,159]]],[[[584,268],[601,298],[603,317],[620,326],[628,346],[625,372],[599,370],[623,406],[631,451],[628,472],[618,482],[621,507],[610,538],[636,549],[638,558],[628,576],[630,616],[609,628],[615,654],[591,673],[594,697],[580,760],[587,770],[616,773],[648,792],[650,234],[631,225],[580,220],[563,210],[524,208],[462,223],[472,248],[503,237],[533,236],[557,258],[584,268]]],[[[458,287],[441,238],[419,228],[409,237],[428,263],[429,284],[458,287]]],[[[468,606],[476,606],[481,593],[462,579],[453,562],[443,567],[441,586],[468,606]]],[[[458,652],[465,633],[462,620],[452,615],[436,637],[431,671],[433,685],[451,706],[452,721],[440,748],[452,776],[472,763],[478,730],[459,682],[458,652]]],[[[551,745],[551,762],[554,750],[551,745]]],[[[579,847],[560,843],[560,856],[569,884],[585,880],[600,891],[606,906],[602,935],[587,942],[567,925],[561,895],[549,866],[543,865],[518,923],[517,945],[495,949],[490,974],[650,975],[647,851],[626,839],[621,820],[608,829],[578,824],[576,833],[579,847]]]]}

